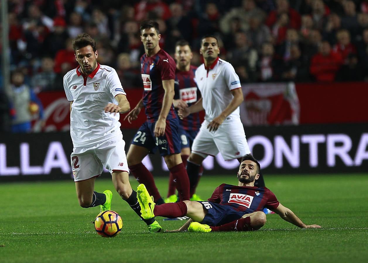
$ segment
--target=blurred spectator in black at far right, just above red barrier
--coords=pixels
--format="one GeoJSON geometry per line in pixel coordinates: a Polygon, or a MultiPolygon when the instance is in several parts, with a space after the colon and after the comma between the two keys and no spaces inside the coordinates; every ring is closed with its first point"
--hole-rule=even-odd
{"type": "Polygon", "coordinates": [[[349,54],[347,57],[348,64],[342,65],[337,72],[337,81],[362,81],[364,79],[363,67],[358,61],[356,54],[349,54]]]}

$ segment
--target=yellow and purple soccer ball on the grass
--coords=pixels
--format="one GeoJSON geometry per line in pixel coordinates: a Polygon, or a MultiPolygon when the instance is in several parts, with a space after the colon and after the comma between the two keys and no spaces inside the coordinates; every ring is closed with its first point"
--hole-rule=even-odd
{"type": "Polygon", "coordinates": [[[95,228],[101,237],[115,237],[123,228],[123,220],[114,211],[103,211],[95,219],[95,228]]]}

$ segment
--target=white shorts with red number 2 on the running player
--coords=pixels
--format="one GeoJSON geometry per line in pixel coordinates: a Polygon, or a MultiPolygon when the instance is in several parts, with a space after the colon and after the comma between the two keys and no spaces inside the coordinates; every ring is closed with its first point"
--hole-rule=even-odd
{"type": "Polygon", "coordinates": [[[89,147],[75,147],[70,159],[75,182],[100,176],[103,167],[110,173],[114,170],[129,173],[125,141],[120,136],[89,147]]]}

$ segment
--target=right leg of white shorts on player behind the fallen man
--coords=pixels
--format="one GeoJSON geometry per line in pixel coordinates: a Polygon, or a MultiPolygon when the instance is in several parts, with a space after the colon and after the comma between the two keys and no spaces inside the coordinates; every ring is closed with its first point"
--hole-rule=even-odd
{"type": "Polygon", "coordinates": [[[215,131],[214,140],[224,160],[238,159],[250,153],[241,122],[221,125],[215,131]]]}

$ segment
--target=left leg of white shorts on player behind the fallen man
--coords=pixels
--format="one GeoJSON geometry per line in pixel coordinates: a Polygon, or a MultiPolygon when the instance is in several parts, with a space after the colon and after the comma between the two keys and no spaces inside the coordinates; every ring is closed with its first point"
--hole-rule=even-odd
{"type": "Polygon", "coordinates": [[[192,153],[194,152],[204,157],[207,155],[216,156],[219,150],[216,147],[213,132],[207,129],[207,123],[206,121],[202,123],[201,129],[193,141],[192,153]]]}

